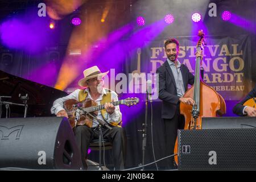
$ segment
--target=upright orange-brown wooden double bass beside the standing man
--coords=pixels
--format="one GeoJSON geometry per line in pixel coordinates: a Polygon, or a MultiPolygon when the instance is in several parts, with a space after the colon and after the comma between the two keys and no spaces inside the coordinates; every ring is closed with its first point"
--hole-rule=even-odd
{"type": "MultiPolygon", "coordinates": [[[[197,51],[203,50],[204,32],[199,30],[199,41],[197,42],[197,51]]],[[[225,100],[213,88],[204,83],[200,74],[201,57],[196,57],[195,81],[190,89],[184,94],[184,98],[193,98],[195,104],[188,105],[180,103],[180,114],[184,115],[184,130],[200,130],[203,117],[216,117],[226,113],[225,100]]],[[[198,138],[200,139],[200,138],[198,138]]],[[[179,151],[177,147],[177,138],[174,146],[174,159],[178,165],[179,151]]]]}

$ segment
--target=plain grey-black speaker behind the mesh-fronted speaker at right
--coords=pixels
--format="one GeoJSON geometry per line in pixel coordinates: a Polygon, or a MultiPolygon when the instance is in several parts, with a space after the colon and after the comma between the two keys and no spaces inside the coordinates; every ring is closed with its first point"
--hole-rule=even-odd
{"type": "Polygon", "coordinates": [[[255,129],[256,117],[204,117],[202,129],[255,129]]]}

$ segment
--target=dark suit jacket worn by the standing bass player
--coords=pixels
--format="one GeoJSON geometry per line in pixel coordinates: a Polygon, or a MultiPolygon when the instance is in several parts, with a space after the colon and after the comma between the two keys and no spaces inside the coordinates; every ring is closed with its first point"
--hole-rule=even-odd
{"type": "MultiPolygon", "coordinates": [[[[180,71],[182,74],[185,91],[188,89],[188,84],[193,85],[194,76],[189,72],[188,68],[181,64],[180,71]]],[[[161,65],[156,73],[159,73],[159,98],[163,100],[162,118],[171,119],[174,117],[177,105],[179,104],[179,96],[177,96],[176,83],[174,75],[168,61],[166,60],[161,65]]]]}

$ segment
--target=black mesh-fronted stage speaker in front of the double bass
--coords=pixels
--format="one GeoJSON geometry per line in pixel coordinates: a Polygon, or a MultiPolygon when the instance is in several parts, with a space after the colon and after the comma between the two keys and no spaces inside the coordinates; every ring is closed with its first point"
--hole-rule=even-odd
{"type": "Polygon", "coordinates": [[[256,129],[178,131],[179,170],[256,170],[256,129]]]}

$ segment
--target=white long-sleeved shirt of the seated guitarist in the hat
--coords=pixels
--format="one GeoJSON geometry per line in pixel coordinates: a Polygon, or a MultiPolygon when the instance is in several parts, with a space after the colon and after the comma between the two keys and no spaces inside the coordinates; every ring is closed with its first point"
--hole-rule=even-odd
{"type": "MultiPolygon", "coordinates": [[[[69,99],[75,99],[75,100],[79,101],[79,92],[80,92],[80,90],[81,89],[77,89],[74,92],[72,92],[71,94],[69,94],[68,96],[58,98],[57,100],[55,100],[53,102],[53,106],[51,108],[51,113],[52,114],[57,114],[60,110],[64,110],[64,108],[63,108],[63,102],[64,101],[67,101],[69,99]]],[[[90,92],[89,92],[88,88],[86,88],[84,90],[84,92],[88,93],[86,98],[89,98],[89,99],[93,100],[92,97],[90,96],[90,92]]],[[[101,105],[101,100],[102,100],[102,97],[103,97],[104,94],[106,94],[106,90],[102,89],[102,93],[101,93],[100,97],[98,97],[97,100],[95,101],[95,102],[97,102],[98,105],[101,105]]],[[[118,101],[117,93],[110,90],[110,94],[111,94],[111,100],[118,101]]],[[[119,106],[115,106],[114,113],[112,113],[112,114],[105,113],[105,118],[106,119],[104,119],[102,117],[101,111],[98,111],[97,118],[101,119],[101,120],[105,120],[108,123],[110,123],[110,122],[119,123],[119,122],[121,122],[121,119],[122,119],[122,113],[119,109],[119,106]]],[[[97,125],[98,125],[98,122],[96,121],[96,119],[93,119],[92,127],[96,127],[97,125]]]]}

